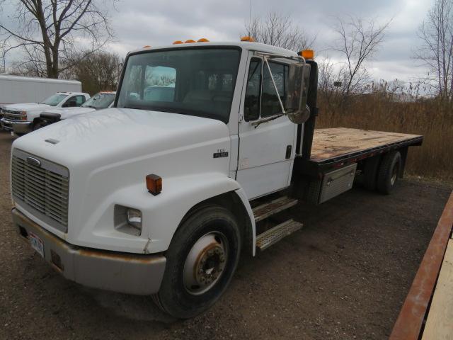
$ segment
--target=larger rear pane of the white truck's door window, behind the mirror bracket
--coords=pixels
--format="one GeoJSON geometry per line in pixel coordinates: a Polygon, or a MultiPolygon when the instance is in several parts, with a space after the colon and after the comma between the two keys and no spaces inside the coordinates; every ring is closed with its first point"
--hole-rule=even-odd
{"type": "MultiPolygon", "coordinates": [[[[289,67],[284,64],[277,64],[269,62],[270,71],[274,77],[275,85],[277,86],[280,100],[285,106],[285,97],[287,92],[287,79],[289,67]]],[[[282,113],[280,102],[278,101],[277,93],[272,78],[269,74],[267,65],[263,67],[263,94],[261,96],[261,117],[268,117],[270,115],[277,115],[282,113]]]]}

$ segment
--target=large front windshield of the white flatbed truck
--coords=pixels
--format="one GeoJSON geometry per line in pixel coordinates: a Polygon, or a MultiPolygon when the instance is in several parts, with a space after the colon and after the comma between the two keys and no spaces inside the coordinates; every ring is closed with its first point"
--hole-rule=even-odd
{"type": "Polygon", "coordinates": [[[214,118],[228,123],[240,51],[195,48],[127,58],[118,108],[214,118]]]}

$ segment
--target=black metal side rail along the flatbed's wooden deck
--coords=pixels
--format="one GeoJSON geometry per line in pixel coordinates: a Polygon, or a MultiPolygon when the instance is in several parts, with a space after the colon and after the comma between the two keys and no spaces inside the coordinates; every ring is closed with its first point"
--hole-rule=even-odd
{"type": "Polygon", "coordinates": [[[422,145],[422,143],[423,136],[417,136],[413,138],[408,138],[407,140],[388,143],[386,145],[379,145],[379,147],[371,147],[357,152],[341,154],[338,157],[331,157],[321,160],[301,158],[296,159],[297,162],[300,162],[300,166],[298,168],[302,171],[303,174],[317,176],[318,174],[322,174],[326,171],[355,163],[357,161],[360,161],[361,159],[373,157],[374,155],[382,154],[393,149],[399,149],[401,147],[422,145]]]}

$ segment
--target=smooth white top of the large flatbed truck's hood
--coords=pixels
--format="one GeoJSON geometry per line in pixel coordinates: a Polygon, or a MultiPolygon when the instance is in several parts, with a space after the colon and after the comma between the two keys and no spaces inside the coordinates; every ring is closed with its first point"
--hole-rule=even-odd
{"type": "Polygon", "coordinates": [[[225,137],[229,137],[229,130],[219,120],[107,108],[48,125],[18,138],[13,147],[69,169],[84,164],[96,169],[225,137]]]}

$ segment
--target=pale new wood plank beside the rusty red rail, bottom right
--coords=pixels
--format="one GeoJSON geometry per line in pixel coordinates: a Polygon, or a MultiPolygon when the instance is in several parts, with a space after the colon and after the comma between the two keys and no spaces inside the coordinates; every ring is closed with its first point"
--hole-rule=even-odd
{"type": "Polygon", "coordinates": [[[422,340],[453,339],[453,240],[445,252],[422,340]]]}

